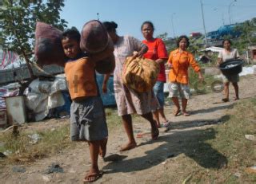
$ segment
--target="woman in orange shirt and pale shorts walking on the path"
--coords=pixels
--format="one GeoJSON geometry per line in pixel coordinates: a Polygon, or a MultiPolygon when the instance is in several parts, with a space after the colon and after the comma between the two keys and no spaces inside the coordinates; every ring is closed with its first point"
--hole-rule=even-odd
{"type": "Polygon", "coordinates": [[[200,71],[198,63],[194,60],[192,53],[186,50],[189,45],[190,41],[188,37],[185,35],[178,37],[178,49],[170,52],[168,59],[168,66],[170,67],[169,91],[170,97],[176,106],[176,110],[174,111],[175,116],[179,115],[181,112],[178,96],[182,98],[182,114],[186,116],[190,115],[188,112],[186,112],[187,100],[190,98],[190,88],[188,86],[188,69],[190,65],[195,72],[198,72],[199,80],[203,80],[202,72],[200,71]]]}

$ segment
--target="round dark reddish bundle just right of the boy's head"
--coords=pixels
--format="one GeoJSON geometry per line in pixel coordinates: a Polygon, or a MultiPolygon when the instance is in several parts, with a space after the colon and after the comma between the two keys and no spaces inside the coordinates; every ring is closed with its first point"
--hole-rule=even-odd
{"type": "Polygon", "coordinates": [[[92,20],[82,27],[80,47],[87,53],[100,53],[108,45],[108,33],[102,22],[92,20]]]}

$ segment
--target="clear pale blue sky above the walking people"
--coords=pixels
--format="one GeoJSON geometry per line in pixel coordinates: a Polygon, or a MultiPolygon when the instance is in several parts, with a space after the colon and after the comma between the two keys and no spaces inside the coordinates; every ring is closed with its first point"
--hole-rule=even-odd
{"type": "Polygon", "coordinates": [[[192,32],[206,33],[222,25],[256,18],[256,0],[66,0],[61,18],[78,30],[98,19],[118,24],[118,35],[129,34],[142,40],[142,22],[153,22],[154,36],[168,33],[177,37],[192,32]]]}

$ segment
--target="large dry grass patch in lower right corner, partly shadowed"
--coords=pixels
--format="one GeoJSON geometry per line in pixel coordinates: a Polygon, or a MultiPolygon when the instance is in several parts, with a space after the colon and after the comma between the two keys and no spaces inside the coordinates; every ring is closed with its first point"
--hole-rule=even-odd
{"type": "Polygon", "coordinates": [[[256,165],[256,143],[245,138],[256,135],[255,119],[256,98],[240,100],[222,124],[195,131],[183,141],[185,155],[178,155],[177,167],[171,169],[180,174],[166,170],[161,183],[256,183],[256,174],[246,172],[247,166],[256,165]]]}

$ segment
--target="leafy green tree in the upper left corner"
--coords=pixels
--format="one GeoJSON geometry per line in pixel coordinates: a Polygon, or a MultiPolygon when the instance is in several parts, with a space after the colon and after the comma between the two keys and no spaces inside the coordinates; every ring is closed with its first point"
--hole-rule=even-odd
{"type": "Polygon", "coordinates": [[[45,22],[63,30],[66,21],[60,18],[64,0],[2,0],[0,5],[0,45],[25,59],[30,77],[34,61],[36,22],[45,22]]]}

